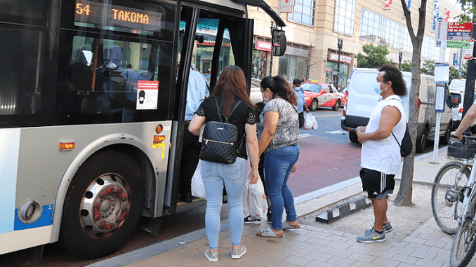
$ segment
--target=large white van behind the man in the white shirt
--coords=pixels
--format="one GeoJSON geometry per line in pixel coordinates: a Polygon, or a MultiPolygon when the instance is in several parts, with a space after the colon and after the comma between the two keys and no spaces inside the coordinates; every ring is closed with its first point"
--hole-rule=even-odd
{"type": "MultiPolygon", "coordinates": [[[[376,83],[378,69],[355,68],[350,74],[348,83],[348,100],[345,102],[341,128],[349,132],[351,142],[357,143],[355,128],[367,125],[371,111],[376,107],[379,95],[373,91],[376,83]]],[[[411,72],[403,72],[406,85],[411,84],[411,72]]],[[[408,94],[402,97],[403,106],[408,118],[409,95],[411,88],[407,87],[408,94]]],[[[421,74],[420,95],[418,96],[418,126],[416,134],[416,152],[421,153],[426,147],[428,139],[435,138],[436,112],[435,112],[435,78],[421,74]]],[[[451,108],[445,105],[442,121],[439,128],[441,144],[448,144],[453,120],[451,108]]]]}

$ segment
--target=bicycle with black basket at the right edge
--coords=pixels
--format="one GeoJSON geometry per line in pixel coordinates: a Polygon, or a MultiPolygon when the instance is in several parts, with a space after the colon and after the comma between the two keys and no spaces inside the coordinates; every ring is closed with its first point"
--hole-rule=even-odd
{"type": "Polygon", "coordinates": [[[439,228],[453,234],[450,266],[465,267],[476,251],[476,137],[464,137],[451,142],[448,155],[463,158],[443,165],[437,172],[432,188],[432,212],[439,228]]]}

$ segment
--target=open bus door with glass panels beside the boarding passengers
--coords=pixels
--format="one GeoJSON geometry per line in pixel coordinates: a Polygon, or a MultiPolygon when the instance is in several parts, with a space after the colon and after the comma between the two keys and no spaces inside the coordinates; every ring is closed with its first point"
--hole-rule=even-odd
{"type": "Polygon", "coordinates": [[[199,71],[208,81],[209,90],[218,81],[220,71],[228,65],[238,65],[251,82],[251,53],[253,48],[253,20],[243,18],[244,12],[226,7],[210,8],[183,3],[178,25],[178,62],[176,80],[177,107],[174,116],[173,140],[169,160],[165,206],[170,213],[204,205],[200,199],[191,204],[178,200],[183,165],[182,151],[185,131],[185,107],[187,104],[188,76],[190,71],[199,71]],[[239,15],[239,16],[238,16],[239,15]]]}

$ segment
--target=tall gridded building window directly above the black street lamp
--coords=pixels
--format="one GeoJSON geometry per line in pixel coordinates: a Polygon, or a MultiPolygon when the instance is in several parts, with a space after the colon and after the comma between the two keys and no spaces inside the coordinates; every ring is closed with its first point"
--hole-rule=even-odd
{"type": "Polygon", "coordinates": [[[336,0],[334,32],[354,36],[356,0],[336,0]]]}

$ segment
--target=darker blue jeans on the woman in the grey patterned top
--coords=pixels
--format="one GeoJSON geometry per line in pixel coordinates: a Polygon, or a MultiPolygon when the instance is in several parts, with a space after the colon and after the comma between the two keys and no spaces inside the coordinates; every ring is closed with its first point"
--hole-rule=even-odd
{"type": "Polygon", "coordinates": [[[286,221],[296,221],[294,198],[287,182],[293,166],[299,158],[299,146],[287,146],[282,149],[266,151],[265,180],[266,190],[271,203],[272,224],[275,230],[283,228],[283,211],[286,209],[286,221]]]}

